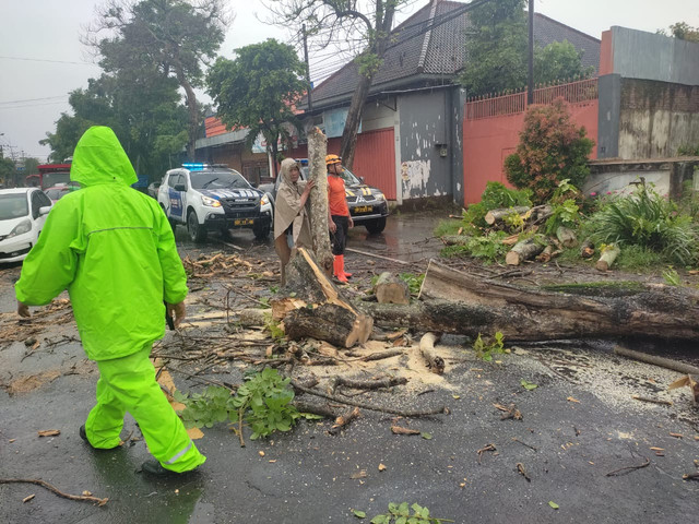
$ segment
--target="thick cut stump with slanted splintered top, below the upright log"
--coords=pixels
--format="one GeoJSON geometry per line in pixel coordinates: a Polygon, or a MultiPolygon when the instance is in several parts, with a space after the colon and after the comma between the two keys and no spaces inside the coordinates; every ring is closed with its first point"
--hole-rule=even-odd
{"type": "Polygon", "coordinates": [[[342,297],[310,251],[298,248],[286,270],[286,286],[271,305],[289,340],[312,337],[344,348],[369,340],[374,320],[342,297]]]}

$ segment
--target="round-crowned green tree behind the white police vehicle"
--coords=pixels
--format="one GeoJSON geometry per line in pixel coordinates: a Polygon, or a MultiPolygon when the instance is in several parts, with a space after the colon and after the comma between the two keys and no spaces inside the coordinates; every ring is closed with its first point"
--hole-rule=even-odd
{"type": "Polygon", "coordinates": [[[279,139],[286,143],[288,124],[297,123],[294,104],[306,90],[305,66],[292,46],[273,38],[236,49],[236,55],[235,60],[218,58],[211,68],[209,94],[226,127],[249,128],[248,145],[261,133],[276,160],[279,139]]]}

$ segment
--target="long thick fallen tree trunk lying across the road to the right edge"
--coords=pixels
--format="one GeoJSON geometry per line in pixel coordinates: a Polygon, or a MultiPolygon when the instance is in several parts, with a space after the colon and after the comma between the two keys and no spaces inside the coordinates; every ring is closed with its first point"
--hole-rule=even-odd
{"type": "Polygon", "coordinates": [[[528,288],[481,279],[434,260],[416,303],[358,307],[382,327],[473,337],[499,331],[508,341],[699,340],[699,291],[694,289],[639,283],[528,288]]]}

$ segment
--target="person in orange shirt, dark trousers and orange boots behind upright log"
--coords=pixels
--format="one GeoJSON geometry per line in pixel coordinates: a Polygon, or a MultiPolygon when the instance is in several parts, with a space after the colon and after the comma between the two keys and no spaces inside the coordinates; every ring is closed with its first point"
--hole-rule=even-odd
{"type": "Polygon", "coordinates": [[[325,156],[328,168],[328,225],[332,238],[333,273],[335,277],[346,283],[352,273],[345,272],[345,246],[347,243],[347,230],[354,227],[347,199],[345,198],[345,181],[341,177],[343,171],[342,158],[337,155],[325,156]]]}

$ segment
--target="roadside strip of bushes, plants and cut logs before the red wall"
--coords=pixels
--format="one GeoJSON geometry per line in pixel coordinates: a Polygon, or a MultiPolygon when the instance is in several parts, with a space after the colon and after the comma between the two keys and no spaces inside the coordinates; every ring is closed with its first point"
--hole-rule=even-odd
{"type": "Polygon", "coordinates": [[[460,221],[441,222],[435,235],[447,243],[442,257],[510,265],[558,257],[568,263],[596,261],[601,271],[613,264],[661,271],[668,284],[677,283],[677,269],[699,263],[699,196],[691,182],[677,202],[642,178],[617,191],[583,194],[593,145],[562,99],[530,107],[517,152],[505,160],[514,189],[488,182],[481,202],[460,221]],[[606,262],[601,265],[599,258],[606,262]]]}

